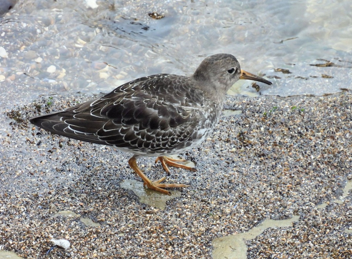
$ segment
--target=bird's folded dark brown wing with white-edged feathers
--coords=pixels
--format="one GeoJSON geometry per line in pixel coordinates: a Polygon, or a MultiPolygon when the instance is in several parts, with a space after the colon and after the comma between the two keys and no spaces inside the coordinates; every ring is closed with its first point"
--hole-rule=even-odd
{"type": "Polygon", "coordinates": [[[172,149],[187,141],[204,118],[203,95],[189,79],[158,74],[30,122],[58,135],[135,150],[172,149]],[[196,103],[196,104],[195,104],[196,103]]]}

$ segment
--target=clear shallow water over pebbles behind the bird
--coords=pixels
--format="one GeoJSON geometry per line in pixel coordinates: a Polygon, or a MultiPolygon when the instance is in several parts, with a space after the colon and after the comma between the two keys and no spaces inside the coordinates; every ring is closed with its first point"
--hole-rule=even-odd
{"type": "Polygon", "coordinates": [[[273,82],[240,80],[230,94],[351,89],[350,11],[350,1],[23,1],[0,18],[0,106],[106,93],[156,73],[190,75],[215,53],[273,82]]]}

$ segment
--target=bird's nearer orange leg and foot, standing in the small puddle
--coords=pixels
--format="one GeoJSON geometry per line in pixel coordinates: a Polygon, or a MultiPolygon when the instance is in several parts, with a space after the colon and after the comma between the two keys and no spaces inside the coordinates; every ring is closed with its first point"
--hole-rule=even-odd
{"type": "Polygon", "coordinates": [[[166,177],[162,177],[161,179],[152,182],[148,177],[146,177],[146,175],[142,172],[142,170],[139,169],[137,165],[137,159],[134,156],[132,156],[132,158],[128,160],[128,164],[131,166],[134,172],[136,172],[139,175],[139,177],[143,179],[144,186],[146,185],[149,189],[166,193],[166,194],[171,194],[171,192],[164,190],[162,188],[182,188],[182,187],[189,186],[187,184],[161,184],[161,182],[164,181],[166,177]]]}

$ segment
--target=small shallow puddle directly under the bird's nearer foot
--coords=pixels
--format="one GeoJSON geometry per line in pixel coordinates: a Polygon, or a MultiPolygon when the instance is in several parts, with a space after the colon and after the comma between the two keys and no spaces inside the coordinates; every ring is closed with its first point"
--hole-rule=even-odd
{"type": "Polygon", "coordinates": [[[134,179],[125,179],[121,182],[120,186],[124,189],[131,190],[139,197],[141,203],[165,209],[166,201],[181,196],[181,192],[178,190],[171,190],[171,195],[160,193],[148,188],[144,188],[142,181],[134,179]]]}

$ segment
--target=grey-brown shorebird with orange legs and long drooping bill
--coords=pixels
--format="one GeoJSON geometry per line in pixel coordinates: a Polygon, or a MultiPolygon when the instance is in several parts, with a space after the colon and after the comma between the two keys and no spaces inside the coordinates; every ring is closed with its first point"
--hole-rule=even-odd
{"type": "Polygon", "coordinates": [[[242,70],[231,54],[206,57],[191,76],[155,74],[127,82],[102,97],[63,111],[31,117],[39,128],[76,140],[112,146],[132,153],[128,164],[144,187],[170,194],[168,188],[188,184],[150,180],[137,158],[156,157],[169,175],[168,166],[196,171],[184,159],[171,158],[199,146],[219,121],[226,92],[239,79],[271,85],[242,70]]]}

